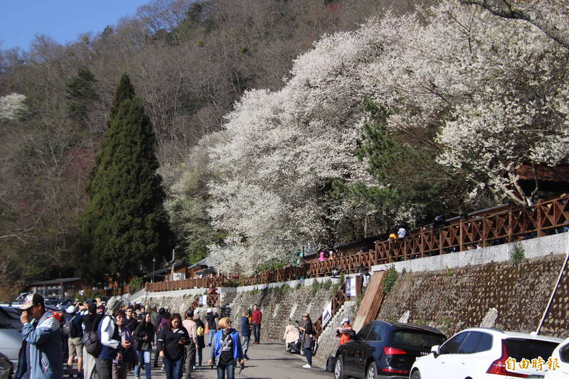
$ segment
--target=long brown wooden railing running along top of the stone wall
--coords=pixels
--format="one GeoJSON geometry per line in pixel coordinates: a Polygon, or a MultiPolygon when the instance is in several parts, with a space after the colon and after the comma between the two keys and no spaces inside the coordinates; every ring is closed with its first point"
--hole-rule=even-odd
{"type": "MultiPolygon", "coordinates": [[[[241,277],[241,285],[285,282],[287,280],[324,277],[337,267],[344,274],[358,272],[361,267],[412,260],[430,255],[486,247],[523,238],[542,237],[569,226],[569,197],[540,201],[523,208],[515,205],[497,208],[493,212],[474,214],[453,220],[442,228],[422,228],[399,240],[376,241],[375,250],[336,256],[323,262],[261,272],[253,277],[241,277]]],[[[147,284],[147,291],[169,291],[208,287],[211,282],[223,286],[223,278],[186,279],[176,282],[147,284]],[[200,282],[202,281],[202,282],[200,282]],[[205,282],[203,282],[205,281],[205,282]]]]}

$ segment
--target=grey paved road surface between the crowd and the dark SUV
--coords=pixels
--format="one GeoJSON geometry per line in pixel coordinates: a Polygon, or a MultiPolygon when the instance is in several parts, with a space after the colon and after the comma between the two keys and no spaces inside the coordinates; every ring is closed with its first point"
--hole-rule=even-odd
{"type": "MultiPolygon", "coordinates": [[[[209,348],[203,349],[203,363],[207,364],[206,357],[209,356],[209,348]]],[[[307,361],[299,354],[289,354],[285,351],[282,343],[260,343],[260,345],[250,345],[248,356],[251,358],[245,362],[245,370],[238,375],[239,368],[235,370],[235,379],[299,379],[299,378],[328,378],[334,377],[333,373],[326,373],[324,365],[316,363],[311,369],[302,368],[307,361]]],[[[314,363],[314,362],[313,362],[314,363]]],[[[141,379],[144,378],[144,370],[140,373],[141,379]]],[[[129,375],[132,378],[132,375],[129,375]]],[[[166,378],[164,371],[160,369],[152,370],[152,378],[166,378]]],[[[193,370],[192,378],[196,379],[217,379],[215,368],[193,370]]]]}

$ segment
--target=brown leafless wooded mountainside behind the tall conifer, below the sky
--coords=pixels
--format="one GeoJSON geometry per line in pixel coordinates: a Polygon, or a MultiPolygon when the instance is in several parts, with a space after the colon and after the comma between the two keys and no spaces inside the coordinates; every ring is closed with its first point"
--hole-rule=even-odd
{"type": "Polygon", "coordinates": [[[38,36],[29,48],[2,50],[0,96],[25,96],[23,103],[3,99],[16,101],[17,117],[4,112],[0,128],[2,278],[73,272],[85,183],[122,74],[130,75],[154,124],[168,188],[191,148],[222,129],[245,90],[280,87],[294,57],[319,36],[356,28],[391,5],[155,0],[66,46],[38,36]]]}

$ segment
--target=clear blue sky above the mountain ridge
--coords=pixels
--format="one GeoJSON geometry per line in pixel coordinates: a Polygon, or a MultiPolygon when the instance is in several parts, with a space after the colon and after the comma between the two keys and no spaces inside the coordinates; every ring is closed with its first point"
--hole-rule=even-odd
{"type": "Polygon", "coordinates": [[[80,33],[101,32],[150,0],[0,0],[0,48],[28,50],[36,34],[58,43],[75,41],[80,33]]]}

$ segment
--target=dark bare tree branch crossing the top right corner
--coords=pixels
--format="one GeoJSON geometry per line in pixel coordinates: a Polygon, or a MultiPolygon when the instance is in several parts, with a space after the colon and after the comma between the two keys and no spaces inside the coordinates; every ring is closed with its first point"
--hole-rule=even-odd
{"type": "Polygon", "coordinates": [[[505,0],[460,0],[460,2],[467,5],[482,6],[491,14],[499,17],[527,21],[543,31],[543,33],[546,33],[553,41],[569,50],[568,33],[560,30],[554,23],[543,17],[541,11],[533,7],[535,4],[528,4],[522,7],[505,0]]]}

